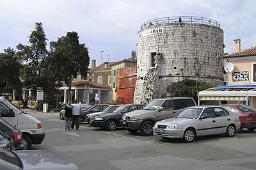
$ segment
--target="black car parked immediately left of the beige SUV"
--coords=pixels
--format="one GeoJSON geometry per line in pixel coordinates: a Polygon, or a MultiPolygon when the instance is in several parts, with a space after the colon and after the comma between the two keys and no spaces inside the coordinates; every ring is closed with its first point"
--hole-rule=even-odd
{"type": "Polygon", "coordinates": [[[115,130],[116,127],[122,127],[120,120],[126,112],[143,109],[143,104],[127,104],[115,109],[115,111],[106,114],[100,114],[92,118],[92,126],[100,127],[106,130],[115,130]]]}

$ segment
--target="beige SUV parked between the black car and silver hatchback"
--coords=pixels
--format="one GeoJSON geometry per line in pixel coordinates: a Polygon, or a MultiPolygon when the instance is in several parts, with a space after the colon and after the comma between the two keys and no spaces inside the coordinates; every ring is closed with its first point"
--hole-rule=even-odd
{"type": "Polygon", "coordinates": [[[131,133],[140,130],[141,135],[152,135],[157,121],[173,118],[182,109],[196,105],[193,98],[159,98],[149,102],[141,111],[124,114],[122,124],[131,133]]]}

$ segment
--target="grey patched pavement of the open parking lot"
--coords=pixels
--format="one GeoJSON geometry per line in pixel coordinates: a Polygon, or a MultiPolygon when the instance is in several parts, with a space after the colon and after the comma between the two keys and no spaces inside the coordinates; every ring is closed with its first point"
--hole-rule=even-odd
{"type": "Polygon", "coordinates": [[[42,121],[45,140],[33,149],[53,150],[79,169],[256,169],[256,131],[235,137],[199,137],[195,143],[132,135],[119,128],[102,131],[81,125],[65,130],[58,113],[32,113],[42,121]]]}

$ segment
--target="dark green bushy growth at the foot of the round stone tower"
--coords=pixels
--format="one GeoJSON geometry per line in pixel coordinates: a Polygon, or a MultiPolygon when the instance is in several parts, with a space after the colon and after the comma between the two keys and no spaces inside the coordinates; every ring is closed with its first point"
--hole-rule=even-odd
{"type": "Polygon", "coordinates": [[[170,85],[172,97],[193,97],[195,101],[198,100],[198,91],[211,87],[212,84],[209,82],[197,82],[189,79],[172,82],[170,85]]]}

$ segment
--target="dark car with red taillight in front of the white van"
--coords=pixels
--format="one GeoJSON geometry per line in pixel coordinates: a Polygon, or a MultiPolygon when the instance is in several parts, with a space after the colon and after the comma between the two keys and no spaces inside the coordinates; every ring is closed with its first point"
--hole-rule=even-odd
{"type": "Polygon", "coordinates": [[[12,138],[15,150],[26,150],[28,145],[22,144],[22,134],[19,129],[10,125],[7,121],[0,118],[0,131],[12,138]]]}

